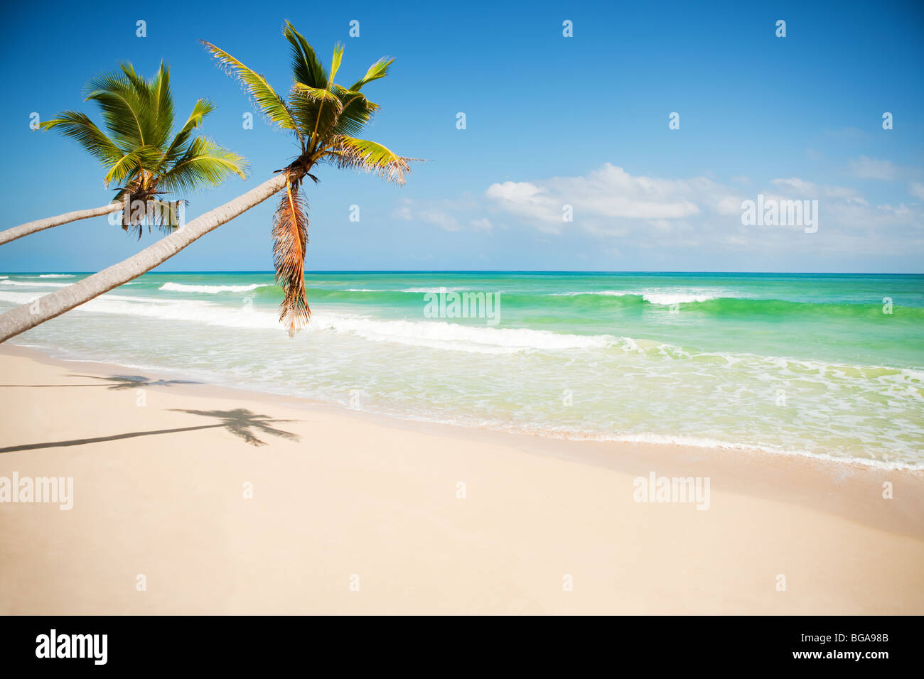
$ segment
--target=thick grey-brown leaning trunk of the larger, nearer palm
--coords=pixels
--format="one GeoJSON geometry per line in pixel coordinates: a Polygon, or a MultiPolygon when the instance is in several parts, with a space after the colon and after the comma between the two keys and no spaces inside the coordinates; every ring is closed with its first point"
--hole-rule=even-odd
{"type": "Polygon", "coordinates": [[[274,193],[286,187],[286,175],[280,174],[263,182],[259,187],[249,190],[235,200],[226,202],[205,214],[201,214],[179,230],[164,236],[151,247],[141,250],[128,260],[103,269],[100,273],[93,273],[74,285],[67,285],[50,295],[39,297],[30,304],[23,304],[16,309],[0,315],[0,342],[6,342],[10,337],[24,333],[39,323],[60,316],[65,311],[79,307],[93,297],[99,297],[104,292],[112,290],[142,273],[151,271],[158,264],[169,260],[181,249],[186,248],[195,240],[226,222],[230,222],[243,212],[247,212],[263,200],[270,198],[274,193]]]}

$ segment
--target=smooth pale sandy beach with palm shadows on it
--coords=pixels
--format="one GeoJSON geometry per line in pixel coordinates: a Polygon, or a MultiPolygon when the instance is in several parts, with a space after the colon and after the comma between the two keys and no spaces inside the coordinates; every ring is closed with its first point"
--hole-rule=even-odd
{"type": "Polygon", "coordinates": [[[0,477],[73,479],[70,509],[0,503],[3,614],[924,613],[919,472],[0,351],[0,477]],[[708,508],[637,502],[652,473],[709,479],[708,508]]]}

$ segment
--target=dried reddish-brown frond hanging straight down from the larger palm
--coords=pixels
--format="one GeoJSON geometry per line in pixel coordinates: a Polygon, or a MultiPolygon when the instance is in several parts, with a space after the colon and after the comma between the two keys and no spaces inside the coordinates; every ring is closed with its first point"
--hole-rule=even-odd
{"type": "MultiPolygon", "coordinates": [[[[288,173],[286,173],[288,174],[288,173]]],[[[273,215],[273,256],[276,283],[283,290],[279,321],[289,337],[311,316],[305,297],[305,246],[308,243],[308,206],[298,192],[299,180],[288,175],[286,190],[273,215]]]]}

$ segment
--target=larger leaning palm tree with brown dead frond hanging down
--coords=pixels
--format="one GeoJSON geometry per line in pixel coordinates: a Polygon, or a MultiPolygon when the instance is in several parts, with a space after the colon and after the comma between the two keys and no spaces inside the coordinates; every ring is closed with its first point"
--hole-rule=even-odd
{"type": "Polygon", "coordinates": [[[378,109],[376,104],[366,99],[361,90],[372,80],[383,78],[392,59],[380,59],[366,71],[365,76],[345,89],[334,84],[334,76],[343,57],[342,47],[334,49],[331,71],[328,73],[310,44],[287,21],[284,33],[291,46],[293,76],[287,101],[255,71],[213,44],[204,44],[243,83],[261,111],[276,125],[295,136],[298,157],[260,186],[202,214],[128,260],[0,315],[0,342],[151,271],[201,236],[283,189],[286,190],[273,219],[276,278],[285,293],[280,321],[286,325],[291,336],[308,320],[310,311],[304,282],[308,217],[305,202],[299,192],[302,180],[308,176],[317,181],[310,172],[316,164],[334,164],[375,172],[385,179],[403,184],[411,159],[398,156],[374,141],[354,136],[378,109]]]}

